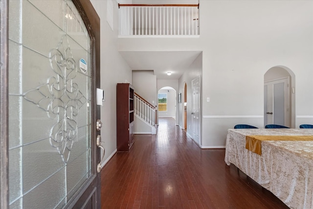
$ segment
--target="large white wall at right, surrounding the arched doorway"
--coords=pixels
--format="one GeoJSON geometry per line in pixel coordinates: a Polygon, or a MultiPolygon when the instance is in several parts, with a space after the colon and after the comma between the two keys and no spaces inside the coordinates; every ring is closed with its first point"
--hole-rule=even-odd
{"type": "Polygon", "coordinates": [[[264,127],[264,74],[274,66],[295,74],[296,115],[313,116],[313,94],[300,93],[313,88],[313,1],[200,4],[201,39],[207,40],[202,96],[210,97],[203,101],[203,146],[224,145],[226,128],[239,122],[264,127]]]}

